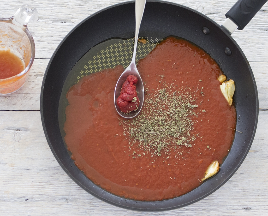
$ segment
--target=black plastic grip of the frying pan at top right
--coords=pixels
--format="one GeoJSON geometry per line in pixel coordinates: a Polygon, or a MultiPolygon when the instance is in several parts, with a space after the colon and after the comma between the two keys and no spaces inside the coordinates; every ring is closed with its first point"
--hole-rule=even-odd
{"type": "Polygon", "coordinates": [[[267,0],[239,0],[225,16],[242,30],[266,2],[267,0]]]}

